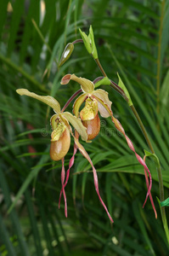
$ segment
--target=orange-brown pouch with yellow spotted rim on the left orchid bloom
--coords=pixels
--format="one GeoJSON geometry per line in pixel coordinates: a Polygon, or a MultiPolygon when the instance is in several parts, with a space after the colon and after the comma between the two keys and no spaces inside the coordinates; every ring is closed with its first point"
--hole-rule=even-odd
{"type": "Polygon", "coordinates": [[[51,134],[50,157],[52,160],[58,161],[65,157],[70,149],[70,131],[67,126],[59,119],[51,118],[51,125],[54,131],[51,134]]]}

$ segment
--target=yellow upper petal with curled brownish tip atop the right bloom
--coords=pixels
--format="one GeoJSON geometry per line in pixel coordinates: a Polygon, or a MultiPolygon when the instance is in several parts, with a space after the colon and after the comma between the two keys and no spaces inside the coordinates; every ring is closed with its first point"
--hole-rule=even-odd
{"type": "Polygon", "coordinates": [[[94,90],[94,84],[88,79],[78,78],[75,74],[66,74],[61,80],[60,84],[68,84],[70,80],[76,81],[78,84],[81,84],[83,92],[92,93],[94,90]]]}

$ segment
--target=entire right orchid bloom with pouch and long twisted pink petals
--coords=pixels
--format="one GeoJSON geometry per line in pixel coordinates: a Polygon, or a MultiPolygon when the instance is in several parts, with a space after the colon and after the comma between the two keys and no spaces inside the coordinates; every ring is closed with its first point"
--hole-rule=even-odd
{"type": "MultiPolygon", "coordinates": [[[[85,107],[81,110],[80,117],[82,119],[83,125],[85,125],[87,127],[87,136],[88,136],[87,139],[93,139],[93,137],[95,137],[94,131],[96,128],[99,127],[98,111],[99,111],[100,115],[104,118],[111,117],[113,123],[115,124],[115,128],[123,134],[123,136],[127,140],[127,144],[129,146],[129,148],[136,155],[138,162],[142,166],[144,166],[144,172],[146,172],[146,174],[145,174],[146,184],[147,184],[147,188],[148,188],[147,195],[146,195],[146,198],[144,201],[144,205],[149,196],[152,207],[155,212],[155,206],[154,206],[154,203],[152,200],[152,196],[150,194],[150,190],[151,190],[151,186],[152,186],[152,178],[151,178],[151,174],[149,172],[149,168],[146,166],[144,160],[136,153],[136,151],[133,147],[132,141],[130,140],[129,137],[127,137],[119,120],[115,119],[115,117],[113,116],[113,113],[111,111],[112,102],[110,102],[110,100],[109,100],[108,93],[105,90],[101,90],[101,89],[94,90],[94,84],[92,81],[90,81],[88,79],[78,78],[78,77],[76,77],[75,74],[66,74],[63,77],[63,79],[61,80],[61,84],[68,84],[70,82],[70,80],[74,80],[78,84],[81,84],[83,93],[81,96],[79,96],[76,99],[76,102],[74,103],[73,112],[75,113],[76,117],[78,117],[79,109],[81,108],[82,103],[85,102],[85,107]],[[93,127],[91,127],[91,126],[93,126],[93,127]],[[93,137],[91,136],[91,134],[93,135],[93,137]],[[149,181],[148,181],[148,177],[147,177],[147,172],[149,174],[149,181]]],[[[96,136],[98,135],[98,133],[99,132],[97,131],[96,136]]],[[[156,217],[156,213],[155,213],[155,217],[156,217]]]]}

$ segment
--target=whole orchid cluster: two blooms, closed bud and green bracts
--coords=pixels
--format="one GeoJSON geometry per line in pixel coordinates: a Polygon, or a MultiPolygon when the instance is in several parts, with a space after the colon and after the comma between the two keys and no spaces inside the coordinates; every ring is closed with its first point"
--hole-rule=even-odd
{"type": "MultiPolygon", "coordinates": [[[[82,42],[84,43],[88,53],[92,55],[94,59],[97,59],[98,53],[94,43],[92,27],[90,27],[90,33],[88,37],[81,30],[80,32],[82,35],[82,39],[80,40],[82,40],[82,42]]],[[[67,44],[60,60],[60,66],[63,65],[65,61],[69,59],[73,49],[74,49],[74,44],[72,43],[67,44]]],[[[51,133],[50,157],[54,161],[58,161],[58,160],[62,161],[62,171],[61,171],[62,188],[59,195],[59,207],[60,207],[61,196],[63,194],[64,200],[65,200],[65,217],[67,217],[67,201],[66,201],[66,195],[65,195],[65,186],[68,183],[68,180],[70,177],[70,168],[74,164],[76,151],[77,149],[79,149],[81,154],[88,160],[88,162],[92,166],[93,181],[94,181],[96,192],[99,196],[99,201],[103,205],[104,210],[107,212],[107,215],[110,218],[110,221],[113,223],[113,219],[110,216],[110,212],[105,206],[104,201],[102,200],[101,195],[99,193],[99,180],[98,180],[96,169],[93,166],[93,162],[90,159],[90,156],[87,154],[87,151],[82,146],[82,143],[79,142],[79,137],[81,137],[84,142],[91,143],[93,138],[99,135],[99,131],[100,131],[99,115],[102,118],[108,118],[108,117],[111,118],[112,122],[115,125],[115,128],[118,131],[120,131],[121,134],[126,138],[128,147],[136,155],[138,162],[142,166],[144,166],[145,180],[146,180],[146,185],[148,189],[147,195],[145,197],[144,205],[149,197],[152,207],[155,211],[155,205],[150,192],[152,187],[152,178],[149,172],[149,168],[148,166],[146,166],[145,161],[136,153],[133,147],[132,141],[130,140],[129,137],[127,137],[120,121],[114,117],[113,112],[111,110],[112,102],[110,102],[108,92],[102,89],[95,90],[96,84],[97,84],[97,87],[100,84],[110,84],[110,79],[104,78],[104,79],[101,79],[101,82],[99,81],[98,83],[95,84],[89,79],[77,77],[75,74],[66,74],[61,79],[61,84],[68,84],[70,80],[73,80],[76,83],[80,84],[81,89],[76,91],[76,93],[70,97],[70,100],[67,103],[65,103],[65,107],[62,108],[62,110],[60,108],[59,102],[56,99],[54,99],[54,97],[52,96],[38,96],[37,94],[25,89],[16,90],[17,93],[20,94],[21,96],[23,95],[31,96],[41,102],[46,103],[49,107],[54,109],[54,115],[50,119],[50,123],[53,130],[51,133]],[[82,94],[78,96],[76,98],[76,101],[74,102],[73,114],[69,112],[65,112],[65,108],[67,108],[70,102],[74,100],[75,97],[80,93],[82,94]],[[83,102],[85,103],[84,108],[82,108],[83,102]],[[75,131],[72,130],[70,125],[74,127],[75,131]],[[74,138],[74,142],[75,142],[74,152],[70,159],[69,168],[65,173],[64,159],[65,159],[65,155],[68,153],[70,149],[70,135],[74,138]],[[148,178],[148,175],[149,175],[149,178],[148,178]]],[[[132,101],[130,96],[128,95],[127,89],[124,87],[124,84],[122,84],[120,77],[119,77],[119,81],[120,81],[119,83],[120,90],[125,91],[129,99],[129,103],[132,104],[132,101]]],[[[155,218],[156,217],[157,215],[155,211],[155,218]]]]}

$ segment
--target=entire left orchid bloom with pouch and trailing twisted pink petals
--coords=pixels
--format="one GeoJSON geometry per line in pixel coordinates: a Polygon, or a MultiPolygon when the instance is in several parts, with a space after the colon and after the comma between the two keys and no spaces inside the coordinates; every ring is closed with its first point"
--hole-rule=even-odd
{"type": "Polygon", "coordinates": [[[84,125],[82,125],[81,119],[72,115],[69,112],[62,113],[60,110],[59,102],[56,101],[54,99],[54,97],[52,97],[52,96],[38,96],[37,94],[30,92],[29,90],[25,90],[25,89],[19,89],[16,91],[21,96],[23,96],[23,95],[31,96],[41,102],[46,103],[49,107],[54,108],[55,114],[50,119],[51,126],[53,129],[52,134],[51,134],[50,157],[52,160],[61,160],[62,161],[62,172],[61,172],[62,189],[61,189],[60,195],[59,195],[59,205],[60,205],[61,195],[63,193],[64,199],[65,199],[65,217],[67,217],[67,201],[66,201],[66,195],[65,195],[65,185],[68,182],[70,167],[74,163],[74,157],[76,154],[76,150],[78,148],[79,151],[88,160],[88,162],[91,164],[91,166],[93,168],[94,185],[95,185],[97,194],[99,195],[99,201],[101,201],[105,211],[107,212],[107,214],[110,218],[110,221],[113,223],[113,219],[111,218],[110,213],[99,194],[99,182],[98,182],[96,169],[94,168],[93,162],[90,159],[89,155],[87,154],[85,148],[83,148],[82,144],[79,143],[79,141],[78,141],[78,135],[80,135],[82,137],[82,140],[87,141],[87,128],[84,125]],[[74,136],[73,132],[71,131],[69,122],[71,125],[74,126],[74,128],[76,130],[75,136],[74,136]],[[64,157],[70,148],[70,134],[74,137],[75,146],[74,146],[74,154],[73,154],[72,158],[70,159],[69,169],[66,173],[66,178],[65,178],[64,157]]]}

